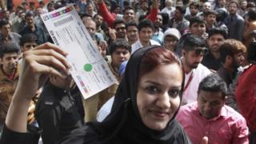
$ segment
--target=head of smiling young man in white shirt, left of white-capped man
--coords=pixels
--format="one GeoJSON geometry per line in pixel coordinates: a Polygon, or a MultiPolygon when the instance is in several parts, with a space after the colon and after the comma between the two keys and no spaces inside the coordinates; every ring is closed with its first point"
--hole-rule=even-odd
{"type": "Polygon", "coordinates": [[[138,24],[138,38],[141,42],[148,43],[152,38],[154,25],[150,20],[143,20],[138,24]]]}

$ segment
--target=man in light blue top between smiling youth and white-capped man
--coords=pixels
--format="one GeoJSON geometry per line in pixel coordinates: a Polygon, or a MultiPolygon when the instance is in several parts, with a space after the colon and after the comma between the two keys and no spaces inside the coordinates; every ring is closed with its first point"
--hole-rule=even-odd
{"type": "Polygon", "coordinates": [[[154,22],[153,39],[159,43],[162,43],[162,38],[163,38],[161,26],[162,26],[162,15],[158,14],[157,20],[154,22]]]}

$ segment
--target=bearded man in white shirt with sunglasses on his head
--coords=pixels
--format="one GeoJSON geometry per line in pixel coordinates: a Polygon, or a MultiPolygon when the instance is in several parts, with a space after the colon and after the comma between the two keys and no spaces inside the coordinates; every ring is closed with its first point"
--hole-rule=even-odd
{"type": "Polygon", "coordinates": [[[211,74],[210,70],[201,64],[206,50],[205,46],[204,40],[197,35],[190,34],[184,40],[182,65],[185,72],[185,83],[182,105],[197,100],[199,82],[211,74]]]}

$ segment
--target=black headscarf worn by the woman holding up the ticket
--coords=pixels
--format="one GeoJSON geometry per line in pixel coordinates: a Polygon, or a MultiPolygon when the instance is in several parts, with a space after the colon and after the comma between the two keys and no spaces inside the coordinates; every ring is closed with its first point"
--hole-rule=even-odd
{"type": "MultiPolygon", "coordinates": [[[[175,120],[178,110],[166,126],[166,129],[161,131],[146,127],[138,112],[136,101],[140,63],[148,51],[157,48],[161,47],[148,46],[132,54],[126,65],[125,75],[115,94],[111,113],[103,122],[87,123],[83,130],[80,130],[80,134],[74,134],[76,137],[84,135],[84,143],[190,143],[186,133],[175,120]],[[92,138],[94,136],[95,138],[92,138]]],[[[180,98],[182,98],[182,94],[180,94],[180,98]]],[[[72,139],[72,143],[74,143],[75,138],[72,139]]]]}

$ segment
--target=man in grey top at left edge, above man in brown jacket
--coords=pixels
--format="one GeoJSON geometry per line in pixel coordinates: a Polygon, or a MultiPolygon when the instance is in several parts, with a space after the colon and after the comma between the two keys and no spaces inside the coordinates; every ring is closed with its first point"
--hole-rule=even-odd
{"type": "Polygon", "coordinates": [[[0,43],[1,44],[8,44],[14,43],[16,46],[19,45],[19,38],[21,36],[17,33],[13,33],[10,31],[10,23],[6,20],[0,21],[0,43]]]}

